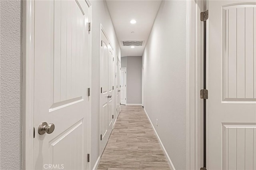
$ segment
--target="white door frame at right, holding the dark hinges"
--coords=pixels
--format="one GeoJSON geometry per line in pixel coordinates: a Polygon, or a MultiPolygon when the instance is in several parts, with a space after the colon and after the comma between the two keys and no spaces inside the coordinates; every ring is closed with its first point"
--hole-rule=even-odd
{"type": "Polygon", "coordinates": [[[203,22],[205,2],[187,1],[186,28],[186,169],[203,167],[203,22]]]}

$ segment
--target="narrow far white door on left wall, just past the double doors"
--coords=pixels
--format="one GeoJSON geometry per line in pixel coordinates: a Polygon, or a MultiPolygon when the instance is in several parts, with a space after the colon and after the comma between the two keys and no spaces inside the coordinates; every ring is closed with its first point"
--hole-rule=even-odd
{"type": "Polygon", "coordinates": [[[116,108],[117,108],[117,112],[116,112],[116,118],[118,117],[120,111],[121,111],[121,63],[120,60],[118,58],[118,56],[116,56],[117,58],[117,66],[116,66],[116,108]]]}

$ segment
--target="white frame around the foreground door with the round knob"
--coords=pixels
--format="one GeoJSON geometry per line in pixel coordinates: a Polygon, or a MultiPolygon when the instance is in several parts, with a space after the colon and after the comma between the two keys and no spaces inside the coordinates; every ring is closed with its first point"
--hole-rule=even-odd
{"type": "MultiPolygon", "coordinates": [[[[34,0],[22,3],[22,169],[34,168],[34,0]]],[[[89,8],[89,20],[92,22],[92,3],[86,0],[89,8]]],[[[92,36],[89,34],[89,41],[92,36]]],[[[89,43],[89,86],[92,77],[92,43],[89,43]]],[[[88,153],[91,153],[91,97],[89,98],[88,153]]],[[[35,132],[37,127],[35,127],[35,132]]],[[[91,163],[88,162],[88,169],[91,163]]]]}

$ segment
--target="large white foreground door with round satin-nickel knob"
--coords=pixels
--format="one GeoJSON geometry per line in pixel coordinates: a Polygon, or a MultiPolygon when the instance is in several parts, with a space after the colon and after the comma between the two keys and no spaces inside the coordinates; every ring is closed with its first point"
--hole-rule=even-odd
{"type": "Polygon", "coordinates": [[[89,6],[34,3],[34,169],[88,169],[89,6]]]}

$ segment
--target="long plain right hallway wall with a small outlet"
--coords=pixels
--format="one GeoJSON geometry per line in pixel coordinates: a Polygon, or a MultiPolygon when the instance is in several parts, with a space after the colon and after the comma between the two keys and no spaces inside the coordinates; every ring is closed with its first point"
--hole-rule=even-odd
{"type": "Polygon", "coordinates": [[[186,169],[186,1],[162,1],[142,63],[144,64],[144,108],[174,167],[176,170],[184,170],[186,169]]]}

